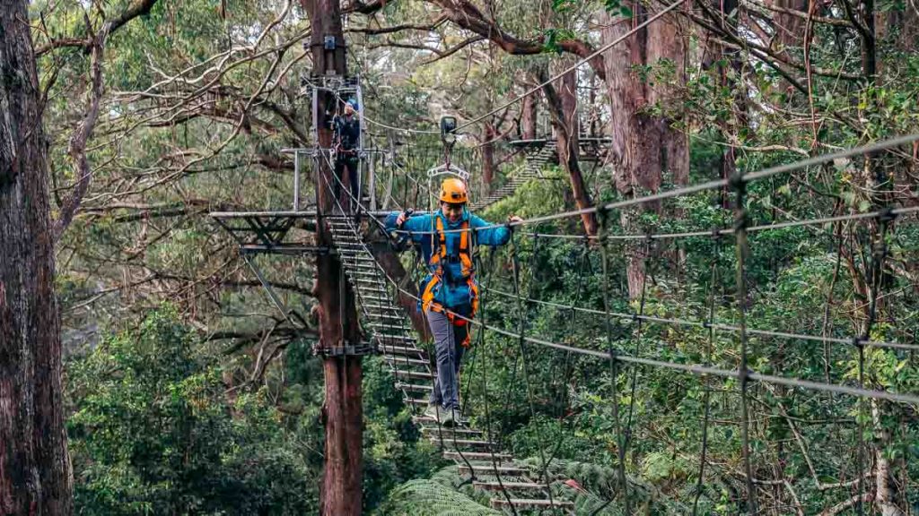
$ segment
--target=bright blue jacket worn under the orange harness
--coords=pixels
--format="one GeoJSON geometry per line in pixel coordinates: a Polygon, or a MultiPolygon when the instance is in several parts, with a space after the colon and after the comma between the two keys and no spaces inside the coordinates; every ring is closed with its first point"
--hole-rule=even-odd
{"type": "MultiPolygon", "coordinates": [[[[387,230],[397,229],[396,219],[399,218],[400,213],[401,212],[399,211],[393,211],[386,217],[384,223],[387,230]]],[[[470,236],[472,237],[470,254],[472,252],[473,246],[475,245],[488,245],[494,247],[498,245],[504,245],[511,239],[511,231],[505,226],[491,227],[484,230],[475,230],[476,228],[493,225],[479,217],[476,217],[475,215],[472,215],[468,209],[463,209],[462,217],[456,223],[450,223],[449,220],[444,216],[443,212],[440,210],[437,210],[436,213],[416,215],[406,220],[402,227],[403,231],[418,231],[421,233],[411,234],[410,237],[412,241],[414,241],[414,243],[418,244],[420,247],[421,256],[424,258],[428,269],[428,275],[426,275],[425,279],[422,280],[422,282],[418,285],[419,294],[425,291],[425,288],[433,279],[434,273],[436,273],[437,269],[441,266],[440,264],[431,264],[431,254],[434,252],[434,249],[440,239],[437,234],[432,233],[432,231],[437,231],[437,221],[435,218],[440,218],[443,221],[445,230],[459,230],[464,221],[469,222],[469,227],[471,229],[470,236]]],[[[460,231],[447,232],[446,244],[448,256],[459,256],[460,235],[460,231]]],[[[443,266],[448,267],[451,265],[444,264],[443,266]]],[[[459,267],[460,265],[453,264],[452,266],[459,267]]],[[[454,277],[457,276],[458,275],[454,275],[454,277]]],[[[438,303],[446,308],[449,308],[450,310],[459,312],[462,315],[471,314],[471,304],[474,295],[475,293],[471,291],[469,284],[465,282],[458,283],[456,285],[450,285],[448,282],[442,282],[441,284],[435,286],[434,290],[434,299],[438,303]]]]}

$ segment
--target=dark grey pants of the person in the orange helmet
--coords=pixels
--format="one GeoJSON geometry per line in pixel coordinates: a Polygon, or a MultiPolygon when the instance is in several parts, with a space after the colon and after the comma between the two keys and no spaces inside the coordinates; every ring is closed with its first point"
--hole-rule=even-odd
{"type": "Polygon", "coordinates": [[[466,351],[462,342],[466,340],[469,325],[453,326],[446,315],[432,310],[425,310],[425,316],[434,335],[437,357],[437,376],[429,400],[443,409],[459,409],[459,362],[466,351]]]}

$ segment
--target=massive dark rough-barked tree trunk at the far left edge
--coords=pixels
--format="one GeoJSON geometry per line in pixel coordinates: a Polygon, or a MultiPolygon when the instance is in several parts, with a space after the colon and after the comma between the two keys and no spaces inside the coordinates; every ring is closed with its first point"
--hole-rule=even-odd
{"type": "Polygon", "coordinates": [[[73,512],[28,2],[0,3],[0,514],[73,512]]]}

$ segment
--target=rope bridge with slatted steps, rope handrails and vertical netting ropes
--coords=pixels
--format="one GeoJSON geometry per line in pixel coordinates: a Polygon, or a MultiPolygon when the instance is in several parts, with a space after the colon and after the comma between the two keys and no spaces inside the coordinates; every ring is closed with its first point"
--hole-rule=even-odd
{"type": "MultiPolygon", "coordinates": [[[[607,363],[610,372],[609,392],[610,398],[612,399],[611,408],[613,411],[613,419],[615,420],[615,437],[618,449],[618,460],[617,464],[615,465],[618,471],[618,495],[620,497],[620,503],[624,505],[627,513],[631,512],[630,506],[634,502],[634,499],[637,496],[637,492],[641,490],[641,486],[628,478],[625,474],[626,455],[631,444],[632,427],[636,420],[635,391],[639,383],[639,369],[641,367],[649,367],[688,373],[695,376],[730,378],[736,381],[741,399],[739,415],[741,420],[740,427],[741,447],[743,455],[743,477],[745,477],[747,484],[746,489],[747,493],[749,493],[749,498],[746,500],[745,504],[743,504],[743,502],[740,503],[743,505],[743,510],[751,514],[755,514],[759,512],[761,508],[759,508],[757,504],[756,493],[758,484],[757,479],[754,477],[754,467],[752,466],[751,459],[751,396],[749,394],[751,384],[788,387],[792,389],[807,389],[823,391],[825,393],[854,396],[859,399],[857,403],[857,411],[859,414],[865,414],[867,410],[864,403],[861,401],[865,398],[882,399],[895,403],[906,403],[911,405],[919,404],[919,396],[916,394],[898,393],[876,388],[869,388],[866,386],[865,382],[865,352],[867,348],[885,348],[909,352],[919,350],[919,345],[916,344],[905,342],[882,342],[871,339],[872,328],[878,323],[877,305],[878,299],[882,295],[881,289],[883,285],[881,282],[881,276],[884,262],[888,258],[888,248],[886,242],[891,223],[894,219],[898,218],[912,218],[915,213],[919,211],[919,207],[895,208],[891,206],[880,206],[877,209],[867,213],[849,213],[845,215],[818,219],[792,220],[774,222],[770,224],[752,225],[749,223],[748,214],[743,208],[745,206],[747,196],[746,187],[751,182],[767,177],[773,177],[777,174],[786,174],[793,170],[811,165],[829,163],[837,159],[882,151],[902,145],[903,143],[913,142],[915,140],[919,140],[919,136],[911,135],[899,139],[879,142],[857,149],[839,151],[823,156],[817,156],[798,163],[782,165],[752,174],[737,175],[728,180],[711,181],[701,185],[686,186],[684,188],[660,192],[651,196],[642,196],[614,203],[608,203],[606,205],[598,206],[595,208],[566,211],[544,217],[527,219],[519,223],[507,224],[508,227],[517,229],[514,232],[514,236],[512,237],[510,251],[512,264],[511,283],[514,286],[514,291],[505,292],[492,286],[491,280],[494,272],[486,270],[484,267],[482,267],[481,256],[478,257],[477,262],[480,264],[480,271],[485,275],[486,279],[486,281],[482,282],[482,302],[490,304],[489,299],[492,295],[505,297],[506,299],[515,301],[517,312],[516,329],[501,327],[488,320],[488,311],[484,307],[482,308],[482,317],[479,320],[471,320],[460,314],[453,315],[459,319],[468,320],[469,323],[480,329],[478,332],[477,344],[475,346],[476,349],[481,350],[484,348],[486,345],[486,335],[488,334],[488,331],[491,331],[495,335],[500,335],[516,342],[517,354],[514,358],[515,366],[513,371],[516,374],[517,364],[521,365],[524,375],[524,384],[527,391],[530,416],[533,418],[536,417],[537,412],[534,408],[534,388],[531,383],[531,376],[533,372],[531,371],[530,366],[530,353],[532,353],[532,350],[537,346],[564,352],[566,353],[566,356],[569,357],[572,354],[583,355],[585,357],[593,357],[594,359],[602,360],[607,363]],[[611,227],[610,214],[613,210],[632,208],[652,201],[676,198],[679,196],[688,196],[709,190],[720,189],[725,186],[730,187],[735,196],[735,208],[733,214],[734,223],[732,227],[717,228],[714,230],[649,234],[616,234],[613,232],[613,228],[611,227]],[[533,233],[527,233],[525,231],[519,230],[519,227],[539,224],[541,222],[547,222],[551,220],[577,217],[581,214],[584,214],[585,212],[596,213],[600,221],[600,232],[596,237],[591,238],[585,237],[584,235],[539,233],[537,231],[534,231],[533,233]],[[804,334],[794,331],[784,331],[780,329],[757,329],[748,326],[747,314],[751,306],[748,301],[749,296],[747,291],[747,267],[750,255],[750,243],[748,241],[748,237],[751,233],[795,227],[807,227],[819,231],[824,231],[823,225],[827,223],[872,220],[879,225],[879,241],[876,242],[876,245],[874,246],[873,252],[870,256],[869,277],[871,279],[871,296],[868,300],[870,304],[870,308],[868,310],[869,317],[863,331],[861,331],[860,334],[854,335],[851,338],[840,338],[827,335],[804,334]],[[582,296],[581,283],[583,282],[580,280],[578,292],[575,295],[575,302],[570,305],[525,296],[521,292],[521,275],[524,273],[524,271],[518,257],[518,241],[519,239],[525,237],[532,238],[534,241],[534,256],[536,255],[535,250],[539,248],[539,245],[536,243],[539,240],[583,239],[585,243],[588,244],[584,246],[584,255],[582,257],[584,263],[590,263],[590,257],[592,253],[599,254],[600,270],[602,275],[601,285],[603,290],[603,309],[587,308],[576,305],[577,299],[582,296]],[[733,241],[729,243],[726,241],[727,237],[733,237],[733,241]],[[678,318],[666,318],[648,315],[645,313],[648,296],[648,279],[650,271],[653,269],[652,262],[653,256],[655,254],[652,252],[652,243],[698,238],[710,239],[710,248],[714,255],[718,255],[722,249],[728,249],[729,247],[734,248],[734,252],[736,253],[735,284],[737,290],[735,306],[739,319],[734,324],[727,324],[715,320],[717,304],[716,301],[718,301],[715,290],[716,285],[721,280],[718,274],[719,269],[717,266],[717,261],[712,261],[710,267],[711,270],[707,294],[708,316],[705,319],[687,320],[678,318]],[[638,299],[638,309],[634,312],[615,311],[610,308],[610,301],[613,298],[613,292],[609,284],[612,254],[610,247],[616,241],[621,242],[620,245],[627,245],[630,244],[630,242],[639,242],[642,244],[641,256],[643,260],[643,273],[641,277],[641,297],[638,299]],[[598,348],[596,346],[576,345],[573,342],[551,342],[549,340],[536,337],[532,334],[528,334],[527,307],[529,305],[558,308],[562,311],[569,310],[573,315],[583,314],[584,316],[602,318],[606,334],[605,345],[598,348]],[[625,349],[624,343],[621,342],[622,338],[618,335],[621,333],[621,328],[614,330],[614,326],[621,326],[620,321],[625,321],[625,324],[630,324],[633,328],[633,336],[631,340],[634,342],[634,346],[632,349],[625,349]],[[705,330],[707,333],[707,344],[704,361],[701,364],[690,364],[667,361],[646,356],[647,350],[642,350],[641,348],[642,332],[647,331],[645,328],[646,324],[663,325],[664,327],[696,327],[705,330]],[[712,346],[715,341],[716,331],[730,332],[736,336],[739,347],[737,350],[739,353],[738,367],[725,368],[714,365],[712,360],[712,346]],[[749,362],[751,354],[749,339],[751,336],[787,339],[791,341],[802,342],[821,342],[827,345],[840,344],[844,346],[850,346],[850,348],[855,353],[857,353],[857,380],[852,384],[835,384],[829,381],[814,381],[805,378],[756,372],[750,367],[749,362]],[[631,374],[628,378],[624,378],[622,377],[623,370],[627,368],[630,368],[631,374]],[[619,391],[619,384],[623,382],[628,386],[628,395],[626,396],[629,399],[629,405],[625,413],[620,413],[618,399],[623,397],[624,393],[619,391]]],[[[333,231],[335,246],[341,253],[343,264],[345,265],[347,279],[351,285],[355,287],[357,292],[357,296],[362,306],[364,319],[368,323],[369,328],[371,328],[371,332],[380,347],[380,351],[382,352],[384,359],[389,365],[391,365],[393,373],[396,376],[397,387],[403,390],[403,397],[406,402],[409,403],[413,409],[419,406],[423,406],[426,404],[425,400],[423,398],[418,398],[417,395],[425,395],[426,393],[430,392],[431,387],[426,383],[411,382],[410,380],[423,380],[425,382],[430,382],[433,379],[430,360],[427,354],[417,346],[417,342],[414,340],[414,337],[411,336],[409,327],[404,322],[404,314],[397,314],[396,308],[393,308],[391,301],[392,297],[396,295],[410,297],[414,297],[414,295],[405,290],[393,278],[389,277],[383,272],[380,264],[376,262],[373,254],[369,251],[367,243],[361,236],[357,225],[354,224],[350,217],[346,216],[345,211],[341,210],[340,206],[338,209],[338,216],[328,219],[328,223],[330,225],[330,229],[333,231]]],[[[385,229],[382,228],[379,220],[373,218],[370,218],[370,220],[371,227],[373,227],[375,230],[379,230],[381,233],[386,233],[385,229]]],[[[480,228],[478,230],[482,229],[484,228],[480,228]]],[[[474,233],[475,230],[471,231],[474,233]]],[[[407,232],[402,230],[396,230],[395,232],[401,233],[403,235],[407,234],[407,232]]],[[[415,231],[413,234],[424,233],[424,231],[415,231]]],[[[429,234],[430,232],[427,233],[429,234]]],[[[389,237],[387,236],[387,238],[389,237]]],[[[835,235],[834,238],[837,240],[837,243],[841,245],[842,235],[835,235]]],[[[661,255],[662,252],[658,251],[656,254],[661,255]]],[[[494,253],[492,261],[494,261],[494,253]]],[[[532,268],[530,268],[530,270],[532,271],[532,268]]],[[[417,297],[414,298],[417,299],[417,297]]],[[[573,321],[575,319],[576,318],[574,317],[572,318],[573,321]]],[[[476,359],[481,353],[482,351],[476,352],[476,355],[473,357],[473,359],[471,359],[469,365],[467,366],[467,368],[471,369],[473,373],[476,371],[476,359]]],[[[443,453],[446,458],[458,462],[459,472],[464,476],[469,476],[467,482],[471,483],[471,485],[475,488],[487,489],[489,492],[493,493],[494,498],[492,499],[492,504],[494,507],[504,508],[505,510],[509,510],[513,513],[517,513],[518,510],[550,510],[559,513],[573,510],[573,503],[565,499],[571,498],[571,493],[566,494],[563,492],[567,488],[560,487],[558,485],[559,483],[556,482],[556,480],[559,479],[557,472],[554,474],[552,473],[552,462],[555,460],[555,453],[553,452],[548,455],[546,454],[546,452],[552,448],[550,445],[550,440],[544,440],[546,445],[540,451],[539,462],[535,465],[535,467],[520,466],[514,461],[510,454],[502,453],[500,451],[502,445],[501,436],[494,432],[495,410],[492,407],[493,400],[490,400],[487,396],[487,368],[482,367],[481,369],[484,372],[478,381],[482,387],[481,391],[484,395],[484,401],[482,403],[483,413],[479,415],[475,421],[481,423],[481,419],[484,419],[483,430],[478,430],[469,426],[459,429],[445,429],[438,426],[436,421],[425,421],[425,418],[422,417],[416,417],[414,421],[421,425],[423,434],[431,437],[434,442],[443,447],[443,453]],[[531,498],[519,498],[519,495],[522,492],[528,493],[531,498]]],[[[568,368],[566,367],[566,369],[568,368]]],[[[473,380],[475,379],[472,374],[467,375],[467,377],[468,380],[465,391],[466,395],[464,397],[464,408],[469,407],[470,405],[469,393],[473,384],[473,380]]],[[[710,393],[711,389],[706,388],[703,399],[704,417],[701,429],[701,462],[698,471],[697,493],[694,498],[692,507],[692,511],[694,513],[699,510],[699,499],[703,496],[704,478],[707,466],[709,466],[709,464],[707,464],[707,438],[709,436],[709,426],[711,424],[710,393]]],[[[506,414],[507,411],[508,410],[505,407],[501,413],[506,414]]],[[[858,418],[859,425],[864,424],[862,422],[863,419],[864,418],[858,418]]],[[[464,422],[468,425],[470,421],[467,420],[464,422]]],[[[863,434],[864,432],[859,432],[859,436],[863,436],[863,434]]],[[[864,442],[864,437],[859,437],[859,442],[857,443],[860,472],[858,475],[859,500],[863,498],[861,495],[864,493],[865,489],[864,478],[866,467],[866,446],[867,444],[864,442]]],[[[596,507],[594,511],[599,512],[600,510],[603,510],[611,501],[612,499],[607,500],[604,504],[596,507]]],[[[860,501],[858,502],[858,505],[861,505],[860,501]]]]}

